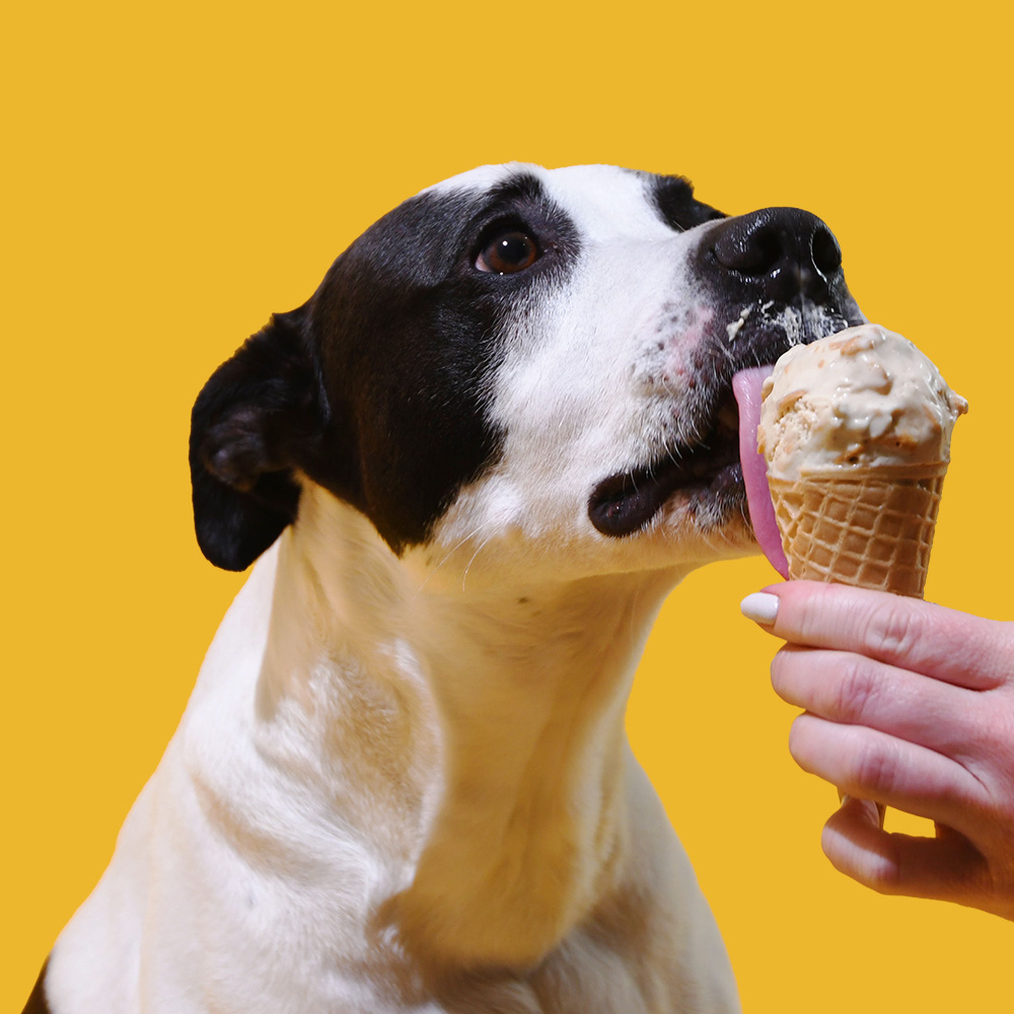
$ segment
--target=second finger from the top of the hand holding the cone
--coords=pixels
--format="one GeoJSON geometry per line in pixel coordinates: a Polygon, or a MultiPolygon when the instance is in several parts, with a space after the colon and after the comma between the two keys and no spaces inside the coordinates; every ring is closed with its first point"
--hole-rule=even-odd
{"type": "Polygon", "coordinates": [[[982,695],[853,652],[787,645],[771,665],[775,693],[813,715],[865,725],[951,757],[984,725],[982,695]]]}

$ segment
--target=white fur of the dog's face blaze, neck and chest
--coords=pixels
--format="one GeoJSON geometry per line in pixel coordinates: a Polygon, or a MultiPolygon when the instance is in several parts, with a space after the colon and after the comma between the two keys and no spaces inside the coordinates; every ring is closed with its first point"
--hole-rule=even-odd
{"type": "Polygon", "coordinates": [[[587,517],[681,435],[700,237],[635,174],[531,171],[583,245],[491,378],[500,461],[401,559],[304,482],[54,950],[55,1014],[739,1009],[624,710],[664,596],[748,529],[679,494],[633,537],[587,517]]]}

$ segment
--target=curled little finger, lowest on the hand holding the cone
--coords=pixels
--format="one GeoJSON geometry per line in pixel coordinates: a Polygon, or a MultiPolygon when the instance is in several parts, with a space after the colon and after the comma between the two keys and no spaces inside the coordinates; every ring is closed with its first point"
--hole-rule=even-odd
{"type": "Polygon", "coordinates": [[[876,813],[850,799],[824,824],[820,840],[835,869],[882,894],[964,901],[982,893],[988,867],[963,836],[937,838],[885,831],[876,813]]]}

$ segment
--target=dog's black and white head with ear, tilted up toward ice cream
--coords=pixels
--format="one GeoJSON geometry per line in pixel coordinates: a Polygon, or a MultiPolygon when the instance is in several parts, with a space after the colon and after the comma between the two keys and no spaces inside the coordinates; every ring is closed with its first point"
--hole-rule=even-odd
{"type": "Polygon", "coordinates": [[[574,573],[741,555],[733,374],[861,320],[806,212],[727,218],[611,166],[476,169],[380,219],[208,381],[198,540],[241,570],[314,483],[397,555],[499,546],[574,573]]]}

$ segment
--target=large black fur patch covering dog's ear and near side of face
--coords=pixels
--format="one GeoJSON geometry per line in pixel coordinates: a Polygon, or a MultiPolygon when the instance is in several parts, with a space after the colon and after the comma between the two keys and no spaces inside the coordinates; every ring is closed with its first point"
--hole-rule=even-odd
{"type": "Polygon", "coordinates": [[[579,249],[538,179],[423,194],[357,239],[299,310],[277,314],[194,407],[198,541],[247,567],[298,509],[298,469],[361,510],[401,553],[426,540],[503,434],[487,400],[512,320],[567,276],[579,249]],[[480,272],[491,229],[523,229],[539,258],[480,272]]]}

